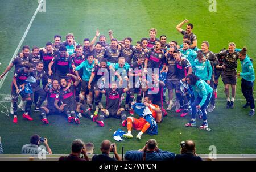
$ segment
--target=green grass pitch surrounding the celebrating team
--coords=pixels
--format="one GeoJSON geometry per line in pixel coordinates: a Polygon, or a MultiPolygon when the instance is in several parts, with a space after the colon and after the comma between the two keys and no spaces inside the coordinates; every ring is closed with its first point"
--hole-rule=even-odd
{"type": "MultiPolygon", "coordinates": [[[[67,33],[73,33],[75,40],[82,43],[85,37],[93,38],[96,29],[108,36],[112,29],[114,37],[121,40],[123,37],[132,37],[134,42],[142,37],[148,37],[148,29],[157,28],[158,34],[166,35],[167,41],[182,41],[182,35],[175,29],[184,19],[194,24],[193,32],[197,35],[197,45],[204,40],[210,42],[210,50],[218,52],[228,46],[228,42],[236,42],[237,48],[246,46],[250,57],[255,57],[255,1],[217,1],[217,12],[209,12],[208,1],[46,1],[46,12],[39,12],[31,25],[30,31],[23,45],[44,46],[52,41],[53,36],[60,34],[65,40],[67,33]]],[[[5,1],[0,2],[3,7],[0,11],[0,38],[1,68],[3,72],[9,64],[16,46],[35,12],[36,1],[5,1]],[[14,12],[15,11],[15,12],[14,12]]],[[[185,25],[183,27],[185,29],[185,25]]],[[[109,42],[109,38],[108,38],[109,42]]],[[[254,62],[254,68],[255,62],[254,62]]],[[[241,65],[238,60],[238,71],[241,65]]],[[[7,76],[0,89],[0,94],[9,94],[13,70],[7,76]]],[[[241,79],[237,83],[236,98],[243,98],[241,93],[241,79]]],[[[223,84],[220,80],[218,98],[225,98],[223,84]]],[[[0,97],[2,100],[2,97],[0,97]]],[[[256,123],[255,117],[248,117],[248,110],[241,106],[245,101],[236,101],[234,109],[225,109],[225,101],[217,101],[216,109],[209,113],[208,121],[212,132],[201,131],[197,128],[187,128],[190,117],[180,118],[173,111],[168,113],[164,122],[159,124],[159,134],[142,136],[141,141],[129,139],[118,143],[118,152],[121,146],[125,151],[140,149],[146,140],[155,138],[159,147],[179,153],[181,140],[193,139],[197,144],[197,153],[208,154],[208,147],[216,145],[217,153],[256,153],[256,123]],[[180,135],[181,132],[181,135],[180,135]],[[232,148],[232,149],[231,149],[232,148]]],[[[9,102],[2,102],[10,109],[9,102]]],[[[6,111],[0,106],[1,111],[6,111]]],[[[39,134],[48,138],[53,153],[69,153],[73,139],[80,138],[92,141],[96,145],[96,153],[100,153],[100,143],[103,139],[113,140],[112,134],[121,127],[118,119],[106,119],[105,127],[98,127],[89,119],[82,118],[81,125],[69,124],[67,119],[59,115],[48,117],[49,126],[40,122],[39,113],[32,114],[34,121],[23,121],[19,111],[18,124],[12,123],[13,117],[0,113],[0,136],[5,153],[20,153],[23,144],[29,143],[32,134],[39,134]],[[110,131],[110,129],[112,129],[110,131]]],[[[197,119],[197,126],[201,120],[197,119]]],[[[123,128],[126,131],[126,128],[123,128]]],[[[133,131],[134,137],[139,131],[133,131]]]]}

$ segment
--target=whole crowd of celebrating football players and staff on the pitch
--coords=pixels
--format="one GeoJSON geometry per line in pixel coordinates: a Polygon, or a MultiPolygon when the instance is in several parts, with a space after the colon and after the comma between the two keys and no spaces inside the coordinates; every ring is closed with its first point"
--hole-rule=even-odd
{"type": "Polygon", "coordinates": [[[18,123],[18,107],[24,112],[23,118],[32,121],[34,102],[35,111],[40,112],[45,124],[49,123],[49,114],[65,114],[69,123],[76,124],[80,124],[79,118],[84,115],[101,127],[105,117],[121,118],[122,126],[127,124],[128,128],[124,136],[133,137],[131,128],[134,127],[141,130],[137,136],[140,139],[152,127],[146,120],[146,113],[160,123],[167,115],[166,110],[176,106],[175,112],[181,117],[191,111],[192,119],[185,126],[196,126],[195,116],[199,114],[199,118],[203,118],[199,128],[205,129],[208,127],[207,111],[212,112],[215,108],[220,75],[225,85],[226,108],[234,108],[237,77],[241,76],[242,93],[246,98],[243,108],[250,106],[249,115],[254,115],[254,70],[247,49],[236,49],[230,42],[227,50],[213,53],[208,41],[201,42],[199,49],[197,37],[192,32],[193,24],[188,23],[183,30],[181,27],[185,23],[188,20],[176,26],[183,35],[181,45],[177,41],[167,42],[165,35],[159,40],[156,29],[152,28],[148,31],[150,38],[142,38],[134,45],[130,37],[115,39],[112,31],[109,31],[109,45],[97,30],[92,41],[84,39],[84,45],[78,44],[73,34],[68,33],[64,42],[61,36],[55,35],[53,43],[47,42],[43,48],[33,46],[31,50],[23,46],[22,52],[0,76],[3,79],[15,66],[10,111],[14,115],[13,122],[18,123]],[[238,58],[242,72],[237,73],[238,58]],[[105,106],[101,103],[103,95],[105,106]],[[121,106],[122,100],[124,106],[121,106]],[[140,112],[139,105],[148,108],[149,112],[146,109],[140,112]],[[128,117],[134,111],[142,113],[141,118],[128,117]]]}

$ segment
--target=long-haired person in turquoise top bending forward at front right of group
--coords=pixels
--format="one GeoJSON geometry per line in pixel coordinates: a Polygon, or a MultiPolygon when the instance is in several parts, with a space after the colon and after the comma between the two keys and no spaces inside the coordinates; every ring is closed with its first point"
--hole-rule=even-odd
{"type": "Polygon", "coordinates": [[[189,74],[186,77],[187,84],[191,87],[193,92],[193,97],[195,100],[191,104],[192,108],[192,119],[191,122],[185,124],[187,127],[196,126],[196,111],[201,110],[203,113],[203,124],[199,129],[208,128],[207,122],[207,111],[206,108],[213,96],[213,89],[204,80],[199,79],[195,74],[189,74]]]}

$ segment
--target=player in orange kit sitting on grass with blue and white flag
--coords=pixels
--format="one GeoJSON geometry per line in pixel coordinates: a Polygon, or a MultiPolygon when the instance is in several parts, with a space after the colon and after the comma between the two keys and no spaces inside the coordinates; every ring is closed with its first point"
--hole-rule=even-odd
{"type": "Polygon", "coordinates": [[[125,138],[133,138],[131,134],[131,128],[133,127],[135,130],[141,130],[139,134],[136,136],[136,139],[141,140],[141,136],[144,132],[148,132],[150,135],[158,134],[158,127],[156,124],[156,119],[162,118],[162,111],[158,105],[152,104],[152,97],[146,96],[144,97],[144,104],[134,103],[133,102],[133,110],[137,113],[141,118],[137,119],[134,117],[127,118],[127,134],[124,134],[125,138]]]}

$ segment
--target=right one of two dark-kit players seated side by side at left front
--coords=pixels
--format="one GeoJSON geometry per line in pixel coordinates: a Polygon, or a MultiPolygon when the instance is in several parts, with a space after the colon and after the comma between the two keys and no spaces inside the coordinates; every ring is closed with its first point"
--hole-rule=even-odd
{"type": "Polygon", "coordinates": [[[72,123],[75,121],[76,124],[80,124],[79,118],[76,117],[76,109],[77,104],[75,100],[75,87],[79,84],[79,80],[75,75],[67,74],[67,76],[71,76],[76,81],[69,87],[67,80],[61,79],[60,85],[61,89],[56,95],[56,99],[54,102],[54,105],[57,109],[60,111],[64,111],[64,113],[68,117],[68,122],[72,123]],[[61,106],[59,106],[59,101],[62,103],[61,106]],[[75,117],[74,117],[75,116],[75,117]]]}

